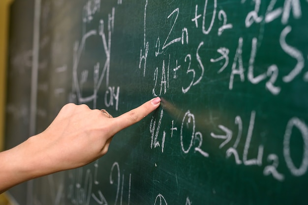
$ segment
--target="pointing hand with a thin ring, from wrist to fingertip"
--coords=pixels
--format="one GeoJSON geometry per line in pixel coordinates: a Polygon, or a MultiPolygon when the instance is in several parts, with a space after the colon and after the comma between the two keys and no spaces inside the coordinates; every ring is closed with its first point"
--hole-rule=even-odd
{"type": "Polygon", "coordinates": [[[117,132],[139,122],[159,104],[160,98],[154,98],[115,118],[85,104],[66,104],[36,143],[59,170],[84,166],[107,153],[117,132]]]}

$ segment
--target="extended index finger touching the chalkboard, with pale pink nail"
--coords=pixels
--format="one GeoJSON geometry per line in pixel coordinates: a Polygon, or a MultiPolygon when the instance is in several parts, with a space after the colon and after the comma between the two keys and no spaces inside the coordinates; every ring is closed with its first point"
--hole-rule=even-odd
{"type": "Polygon", "coordinates": [[[114,132],[117,133],[120,130],[127,128],[150,114],[160,105],[160,98],[156,97],[146,103],[143,103],[139,107],[132,109],[119,117],[113,118],[115,122],[114,132]]]}

